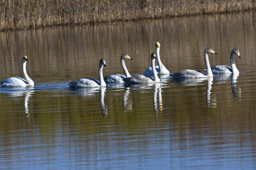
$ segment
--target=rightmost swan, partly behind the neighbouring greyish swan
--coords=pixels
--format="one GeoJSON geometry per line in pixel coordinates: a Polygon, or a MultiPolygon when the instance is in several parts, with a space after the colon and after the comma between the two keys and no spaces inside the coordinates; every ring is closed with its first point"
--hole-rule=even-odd
{"type": "Polygon", "coordinates": [[[231,73],[239,74],[239,71],[236,67],[235,60],[234,60],[234,55],[235,54],[239,58],[241,58],[240,53],[239,53],[239,49],[237,49],[237,48],[232,49],[231,54],[230,54],[231,67],[227,66],[227,65],[214,65],[214,66],[211,67],[212,73],[213,74],[231,74],[231,73]]]}

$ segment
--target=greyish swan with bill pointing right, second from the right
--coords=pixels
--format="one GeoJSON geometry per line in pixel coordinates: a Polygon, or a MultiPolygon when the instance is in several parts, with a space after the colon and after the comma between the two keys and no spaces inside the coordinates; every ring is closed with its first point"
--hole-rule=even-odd
{"type": "Polygon", "coordinates": [[[206,48],[204,50],[204,59],[206,65],[206,74],[199,72],[197,70],[181,70],[175,73],[172,73],[173,78],[207,78],[213,77],[209,57],[207,53],[217,54],[211,48],[206,48]]]}

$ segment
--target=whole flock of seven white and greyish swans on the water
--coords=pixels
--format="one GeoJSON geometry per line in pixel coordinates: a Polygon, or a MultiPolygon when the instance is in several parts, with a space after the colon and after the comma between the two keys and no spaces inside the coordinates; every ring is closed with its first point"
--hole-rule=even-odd
{"type": "MultiPolygon", "coordinates": [[[[151,53],[151,66],[149,66],[144,74],[133,74],[131,75],[125,65],[125,60],[133,60],[129,55],[123,54],[120,57],[120,63],[123,69],[124,74],[110,74],[106,77],[103,77],[103,67],[107,66],[106,61],[101,58],[99,61],[99,80],[91,79],[91,78],[82,78],[77,79],[75,81],[70,81],[68,86],[70,88],[94,88],[94,87],[106,87],[109,83],[124,83],[124,84],[139,84],[139,83],[158,83],[161,82],[158,75],[171,76],[174,79],[179,78],[208,78],[213,77],[214,74],[239,74],[239,71],[235,64],[234,56],[235,54],[241,58],[240,52],[237,48],[231,50],[230,53],[230,66],[227,65],[214,65],[210,66],[209,62],[209,54],[215,54],[213,49],[206,48],[204,50],[204,60],[206,66],[206,73],[197,71],[197,70],[181,70],[178,72],[170,73],[169,70],[166,69],[164,64],[160,58],[160,43],[156,42],[155,44],[156,53],[151,53]],[[155,60],[158,65],[155,65],[155,60]]],[[[26,71],[26,63],[28,61],[27,56],[22,57],[22,73],[23,78],[20,77],[12,77],[1,81],[2,87],[11,88],[11,87],[33,87],[34,81],[29,78],[26,71]]]]}

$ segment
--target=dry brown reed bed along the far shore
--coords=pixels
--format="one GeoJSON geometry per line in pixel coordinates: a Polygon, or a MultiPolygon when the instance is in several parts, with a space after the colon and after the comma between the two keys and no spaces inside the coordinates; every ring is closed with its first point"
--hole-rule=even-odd
{"type": "Polygon", "coordinates": [[[1,0],[0,30],[255,10],[255,0],[1,0]]]}

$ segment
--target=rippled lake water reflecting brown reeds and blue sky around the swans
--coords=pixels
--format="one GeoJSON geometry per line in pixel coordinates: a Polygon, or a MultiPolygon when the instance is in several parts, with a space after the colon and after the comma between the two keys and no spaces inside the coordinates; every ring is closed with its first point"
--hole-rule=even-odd
{"type": "Polygon", "coordinates": [[[0,32],[0,169],[253,169],[256,167],[256,12],[0,32]],[[69,81],[145,71],[155,43],[170,72],[230,65],[241,74],[159,84],[70,89],[69,81]]]}

